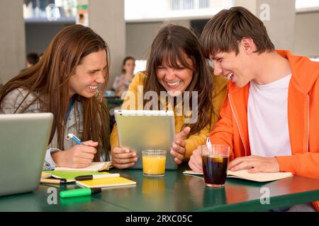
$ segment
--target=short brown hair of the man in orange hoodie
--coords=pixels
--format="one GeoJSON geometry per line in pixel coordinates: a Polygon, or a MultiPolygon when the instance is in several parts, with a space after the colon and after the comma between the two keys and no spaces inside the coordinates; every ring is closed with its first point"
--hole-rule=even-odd
{"type": "Polygon", "coordinates": [[[206,58],[218,52],[239,53],[238,42],[251,37],[259,54],[274,51],[267,30],[257,16],[243,7],[224,9],[208,21],[201,34],[201,45],[206,58]]]}

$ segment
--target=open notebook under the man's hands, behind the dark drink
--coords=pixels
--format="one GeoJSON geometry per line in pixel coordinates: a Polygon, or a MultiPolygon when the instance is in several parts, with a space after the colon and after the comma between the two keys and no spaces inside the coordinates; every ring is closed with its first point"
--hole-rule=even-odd
{"type": "MultiPolygon", "coordinates": [[[[192,170],[185,170],[184,174],[203,175],[203,173],[193,172],[192,170]]],[[[258,172],[251,174],[245,170],[227,172],[227,177],[247,179],[254,182],[272,182],[277,179],[284,179],[286,177],[293,177],[291,172],[258,172]]]]}

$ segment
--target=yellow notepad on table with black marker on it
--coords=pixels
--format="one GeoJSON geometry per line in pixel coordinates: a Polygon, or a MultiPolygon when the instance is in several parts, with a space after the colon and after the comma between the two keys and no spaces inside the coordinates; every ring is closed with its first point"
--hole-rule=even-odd
{"type": "Polygon", "coordinates": [[[104,188],[111,186],[128,186],[135,185],[136,182],[126,179],[124,177],[110,177],[101,179],[91,179],[88,181],[77,181],[79,186],[84,186],[86,188],[104,188]]]}

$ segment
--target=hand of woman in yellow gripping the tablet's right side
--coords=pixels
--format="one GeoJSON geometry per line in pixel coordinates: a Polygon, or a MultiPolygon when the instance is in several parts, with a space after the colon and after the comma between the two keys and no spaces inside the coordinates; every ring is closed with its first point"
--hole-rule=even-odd
{"type": "Polygon", "coordinates": [[[186,126],[181,132],[177,133],[176,141],[172,145],[171,155],[174,156],[174,161],[177,164],[181,164],[181,162],[184,160],[186,154],[185,139],[186,136],[189,134],[189,131],[191,131],[191,128],[189,126],[186,126]]]}

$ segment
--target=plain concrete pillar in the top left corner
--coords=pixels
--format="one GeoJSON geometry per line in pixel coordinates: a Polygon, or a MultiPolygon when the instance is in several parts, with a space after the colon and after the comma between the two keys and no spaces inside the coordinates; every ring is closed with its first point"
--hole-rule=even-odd
{"type": "Polygon", "coordinates": [[[23,0],[1,1],[0,80],[3,83],[26,67],[23,0]]]}

